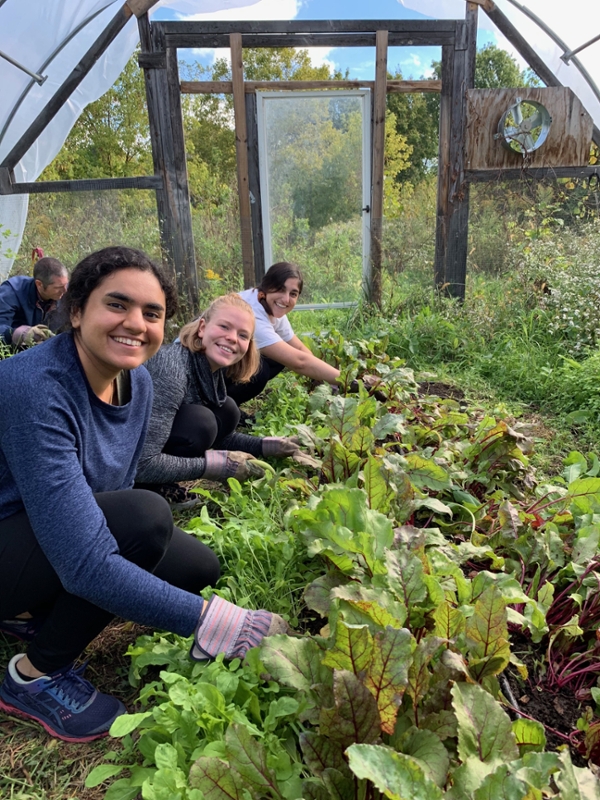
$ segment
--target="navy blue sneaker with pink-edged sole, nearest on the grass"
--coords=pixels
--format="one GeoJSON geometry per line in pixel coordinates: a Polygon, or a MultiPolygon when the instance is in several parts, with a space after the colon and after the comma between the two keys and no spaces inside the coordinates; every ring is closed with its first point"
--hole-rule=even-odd
{"type": "Polygon", "coordinates": [[[39,722],[51,736],[65,742],[91,742],[106,736],[114,720],[125,713],[116,697],[102,694],[83,677],[85,664],[64,669],[33,681],[23,681],[10,660],[0,686],[0,709],[39,722]]]}

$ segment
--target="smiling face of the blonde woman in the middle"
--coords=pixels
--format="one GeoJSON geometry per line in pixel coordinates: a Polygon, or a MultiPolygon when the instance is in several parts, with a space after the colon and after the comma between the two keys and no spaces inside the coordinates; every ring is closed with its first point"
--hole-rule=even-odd
{"type": "Polygon", "coordinates": [[[221,306],[209,320],[198,323],[204,355],[213,372],[237,364],[248,352],[254,333],[254,315],[235,306],[221,306]]]}

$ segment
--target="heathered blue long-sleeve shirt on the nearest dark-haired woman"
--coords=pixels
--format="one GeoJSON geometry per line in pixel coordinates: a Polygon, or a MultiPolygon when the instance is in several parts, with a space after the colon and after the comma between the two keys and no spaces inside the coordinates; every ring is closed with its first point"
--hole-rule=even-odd
{"type": "Polygon", "coordinates": [[[152,381],[144,367],[130,376],[127,404],[102,402],[70,333],[0,362],[0,519],[27,512],[66,591],[187,636],[202,598],[123,558],[93,496],[133,485],[152,381]]]}

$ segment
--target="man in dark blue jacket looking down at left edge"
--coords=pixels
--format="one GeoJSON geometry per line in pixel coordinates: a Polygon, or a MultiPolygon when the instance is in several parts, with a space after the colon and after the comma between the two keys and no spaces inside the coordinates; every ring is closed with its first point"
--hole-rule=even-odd
{"type": "Polygon", "coordinates": [[[15,275],[0,284],[0,340],[22,347],[53,336],[48,322],[68,284],[65,265],[47,256],[35,263],[33,278],[15,275]]]}

